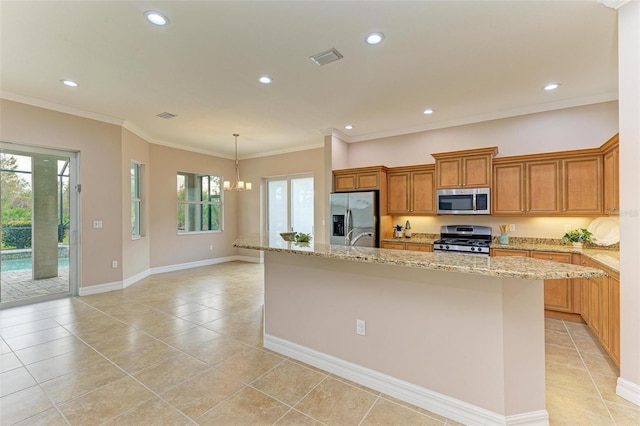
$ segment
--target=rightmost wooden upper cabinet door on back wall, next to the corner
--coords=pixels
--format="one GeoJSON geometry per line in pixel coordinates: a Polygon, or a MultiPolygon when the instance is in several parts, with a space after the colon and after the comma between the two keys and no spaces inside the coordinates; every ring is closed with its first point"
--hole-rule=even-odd
{"type": "Polygon", "coordinates": [[[562,161],[563,214],[601,215],[602,160],[600,155],[562,161]]]}

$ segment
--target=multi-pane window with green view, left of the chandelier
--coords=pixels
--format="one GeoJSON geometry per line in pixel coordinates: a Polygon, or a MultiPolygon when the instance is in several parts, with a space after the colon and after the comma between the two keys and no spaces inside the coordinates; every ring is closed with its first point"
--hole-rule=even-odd
{"type": "Polygon", "coordinates": [[[178,172],[178,233],[222,231],[222,177],[178,172]]]}

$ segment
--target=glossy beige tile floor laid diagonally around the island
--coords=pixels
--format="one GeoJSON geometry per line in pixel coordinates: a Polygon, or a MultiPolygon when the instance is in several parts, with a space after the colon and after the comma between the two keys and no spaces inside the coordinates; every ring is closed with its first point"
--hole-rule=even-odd
{"type": "MultiPolygon", "coordinates": [[[[264,350],[262,272],[232,262],[0,311],[0,424],[455,424],[264,350]]],[[[589,330],[546,328],[551,423],[640,424],[589,330]]]]}

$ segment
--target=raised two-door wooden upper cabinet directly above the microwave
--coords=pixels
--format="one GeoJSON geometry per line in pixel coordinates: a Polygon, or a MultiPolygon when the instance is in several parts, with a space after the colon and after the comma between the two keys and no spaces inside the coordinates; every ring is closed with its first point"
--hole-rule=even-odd
{"type": "Polygon", "coordinates": [[[437,188],[491,186],[491,162],[497,147],[431,154],[436,159],[437,188]]]}

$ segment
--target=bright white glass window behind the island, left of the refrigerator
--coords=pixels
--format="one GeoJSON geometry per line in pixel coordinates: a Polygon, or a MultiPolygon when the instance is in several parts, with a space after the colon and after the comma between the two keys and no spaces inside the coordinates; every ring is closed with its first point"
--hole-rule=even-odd
{"type": "Polygon", "coordinates": [[[280,232],[313,234],[313,177],[267,179],[267,233],[280,238],[280,232]]]}

